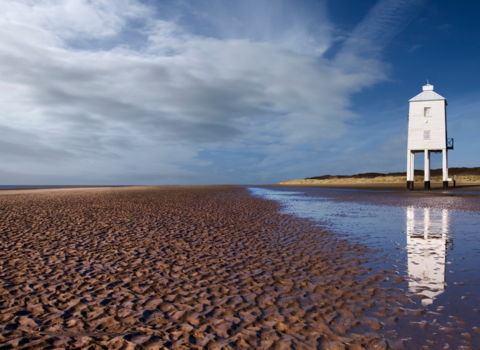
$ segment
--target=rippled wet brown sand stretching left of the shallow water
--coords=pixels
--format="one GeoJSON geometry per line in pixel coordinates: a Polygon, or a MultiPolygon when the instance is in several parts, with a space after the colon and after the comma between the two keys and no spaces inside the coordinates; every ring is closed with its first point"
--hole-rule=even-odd
{"type": "Polygon", "coordinates": [[[417,348],[381,331],[422,320],[402,278],[242,187],[0,191],[0,217],[1,349],[417,348]]]}

